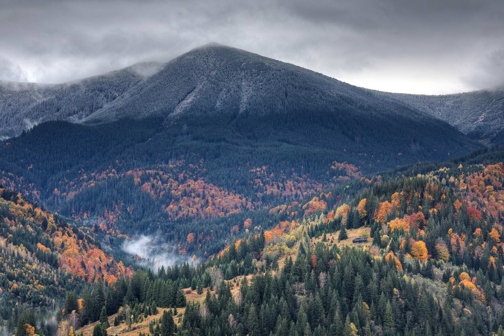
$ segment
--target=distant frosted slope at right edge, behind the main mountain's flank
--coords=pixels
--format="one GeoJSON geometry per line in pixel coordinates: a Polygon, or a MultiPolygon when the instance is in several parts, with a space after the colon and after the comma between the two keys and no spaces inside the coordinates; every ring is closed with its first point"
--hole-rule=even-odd
{"type": "Polygon", "coordinates": [[[502,144],[504,88],[452,95],[385,94],[455,126],[485,144],[502,144]]]}

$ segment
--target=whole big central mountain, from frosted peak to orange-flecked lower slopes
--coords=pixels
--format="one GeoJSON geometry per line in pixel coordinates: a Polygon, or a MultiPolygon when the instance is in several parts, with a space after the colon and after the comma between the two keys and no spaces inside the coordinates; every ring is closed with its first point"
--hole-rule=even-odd
{"type": "Polygon", "coordinates": [[[271,208],[483,147],[396,99],[215,44],[163,65],[3,90],[4,132],[57,120],[3,142],[0,183],[96,232],[156,233],[199,256],[247,218],[268,225],[271,208]]]}

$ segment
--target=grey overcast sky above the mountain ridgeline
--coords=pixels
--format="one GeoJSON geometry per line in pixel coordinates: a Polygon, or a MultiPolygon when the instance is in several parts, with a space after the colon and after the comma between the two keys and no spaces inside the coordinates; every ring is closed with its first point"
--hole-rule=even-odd
{"type": "Polygon", "coordinates": [[[208,42],[361,87],[442,94],[504,83],[504,1],[0,0],[0,79],[57,83],[208,42]]]}

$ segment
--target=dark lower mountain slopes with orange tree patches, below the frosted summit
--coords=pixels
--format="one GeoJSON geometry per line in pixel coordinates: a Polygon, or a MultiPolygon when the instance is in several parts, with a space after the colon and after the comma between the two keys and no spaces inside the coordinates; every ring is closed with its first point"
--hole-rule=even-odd
{"type": "Polygon", "coordinates": [[[200,253],[205,244],[186,247],[185,237],[193,226],[212,228],[195,232],[216,244],[203,246],[212,254],[234,226],[226,218],[243,222],[251,216],[244,212],[307,200],[361,171],[443,160],[479,146],[428,120],[420,128],[402,117],[341,120],[306,114],[206,125],[48,122],[2,144],[0,179],[53,211],[103,224],[103,232],[161,230],[180,250],[200,253]]]}

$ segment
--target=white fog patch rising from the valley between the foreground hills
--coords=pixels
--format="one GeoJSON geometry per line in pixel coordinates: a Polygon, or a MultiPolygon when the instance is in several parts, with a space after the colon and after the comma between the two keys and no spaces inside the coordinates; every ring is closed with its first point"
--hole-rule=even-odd
{"type": "Polygon", "coordinates": [[[178,254],[175,245],[152,236],[141,235],[132,240],[125,240],[122,250],[135,256],[140,265],[153,271],[157,271],[161,266],[166,268],[184,262],[194,262],[191,258],[178,254]]]}

